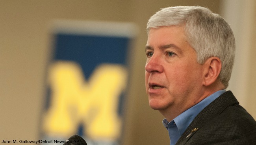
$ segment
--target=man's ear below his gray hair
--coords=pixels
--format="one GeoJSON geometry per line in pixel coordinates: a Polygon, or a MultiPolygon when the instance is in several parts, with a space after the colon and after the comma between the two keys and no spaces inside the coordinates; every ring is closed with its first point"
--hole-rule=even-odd
{"type": "Polygon", "coordinates": [[[210,57],[204,62],[204,86],[213,84],[221,72],[221,59],[210,57]]]}

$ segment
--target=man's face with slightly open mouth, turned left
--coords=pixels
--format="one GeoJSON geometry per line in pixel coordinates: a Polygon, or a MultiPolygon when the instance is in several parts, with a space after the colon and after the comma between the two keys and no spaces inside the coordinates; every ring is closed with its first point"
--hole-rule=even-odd
{"type": "Polygon", "coordinates": [[[186,42],[184,27],[151,28],[146,55],[145,85],[152,109],[182,113],[198,103],[203,66],[186,42]]]}

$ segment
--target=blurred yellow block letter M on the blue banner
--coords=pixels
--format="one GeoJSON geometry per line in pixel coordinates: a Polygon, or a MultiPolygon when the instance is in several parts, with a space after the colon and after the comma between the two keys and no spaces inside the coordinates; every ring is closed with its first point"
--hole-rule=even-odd
{"type": "Polygon", "coordinates": [[[85,134],[92,139],[119,137],[121,120],[117,108],[126,88],[124,67],[100,65],[85,82],[79,65],[58,62],[50,67],[48,79],[52,94],[44,116],[45,132],[69,136],[83,123],[85,134]]]}

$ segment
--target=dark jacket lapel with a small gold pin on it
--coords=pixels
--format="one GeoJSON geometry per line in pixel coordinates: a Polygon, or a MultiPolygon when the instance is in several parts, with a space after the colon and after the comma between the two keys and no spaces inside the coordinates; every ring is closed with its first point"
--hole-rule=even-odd
{"type": "Polygon", "coordinates": [[[235,103],[238,103],[238,101],[232,92],[224,92],[195,117],[177,141],[176,145],[184,145],[205,123],[219,115],[226,107],[234,105],[235,103]]]}

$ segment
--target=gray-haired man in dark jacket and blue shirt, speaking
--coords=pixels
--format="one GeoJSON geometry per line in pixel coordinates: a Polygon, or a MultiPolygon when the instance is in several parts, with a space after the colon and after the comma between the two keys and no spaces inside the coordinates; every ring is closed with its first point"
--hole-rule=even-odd
{"type": "Polygon", "coordinates": [[[225,90],[235,56],[227,22],[204,7],[167,7],[147,31],[146,92],[171,145],[256,144],[256,121],[225,90]]]}

